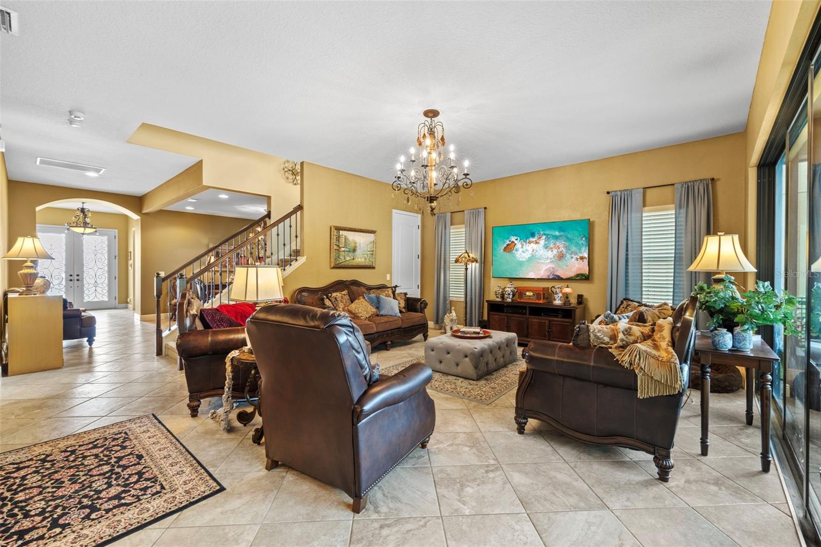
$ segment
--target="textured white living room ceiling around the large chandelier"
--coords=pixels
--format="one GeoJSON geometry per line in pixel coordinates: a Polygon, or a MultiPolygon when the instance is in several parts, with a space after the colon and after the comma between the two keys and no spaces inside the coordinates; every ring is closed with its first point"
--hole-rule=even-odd
{"type": "MultiPolygon", "coordinates": [[[[190,159],[140,122],[391,178],[438,108],[475,180],[742,131],[769,2],[16,2],[11,177],[141,193],[190,159]],[[67,110],[87,114],[79,131],[67,110]],[[85,177],[78,175],[77,177],[85,177]]],[[[162,179],[162,180],[160,180],[162,179]]]]}

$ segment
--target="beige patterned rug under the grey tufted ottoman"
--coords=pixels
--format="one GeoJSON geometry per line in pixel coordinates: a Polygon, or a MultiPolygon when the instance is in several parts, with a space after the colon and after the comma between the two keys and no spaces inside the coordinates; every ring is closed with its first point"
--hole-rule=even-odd
{"type": "MultiPolygon", "coordinates": [[[[410,359],[410,361],[397,363],[396,365],[381,367],[379,372],[383,376],[392,376],[407,365],[420,362],[424,363],[424,359],[410,359]]],[[[519,383],[519,370],[525,368],[525,366],[525,361],[517,359],[510,365],[503,366],[501,369],[478,380],[459,378],[434,370],[433,379],[430,380],[428,387],[448,395],[489,405],[516,387],[516,384],[519,383]]]]}

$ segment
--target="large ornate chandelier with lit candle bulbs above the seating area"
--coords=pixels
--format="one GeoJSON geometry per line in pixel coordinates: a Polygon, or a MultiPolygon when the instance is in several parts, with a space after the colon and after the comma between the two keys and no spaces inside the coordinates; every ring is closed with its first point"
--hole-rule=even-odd
{"type": "Polygon", "coordinates": [[[459,173],[453,145],[450,145],[445,158],[445,126],[442,122],[436,122],[439,111],[429,108],[422,115],[428,119],[419,124],[416,146],[411,146],[409,150],[410,161],[405,156],[399,159],[391,187],[394,192],[402,191],[407,203],[415,200],[417,210],[421,210],[422,203],[427,202],[433,216],[439,200],[449,203],[452,196],[459,200],[461,190],[473,186],[473,181],[467,170],[467,160],[463,163],[464,170],[459,173]]]}

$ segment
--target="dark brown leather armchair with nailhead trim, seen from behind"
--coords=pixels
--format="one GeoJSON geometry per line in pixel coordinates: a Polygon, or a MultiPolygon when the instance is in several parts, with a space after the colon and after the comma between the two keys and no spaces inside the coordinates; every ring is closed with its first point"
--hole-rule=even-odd
{"type": "Polygon", "coordinates": [[[336,311],[264,306],[245,327],[262,378],[265,468],[283,462],[336,486],[360,513],[374,485],[428,444],[431,370],[415,363],[368,385],[365,339],[336,311]]]}

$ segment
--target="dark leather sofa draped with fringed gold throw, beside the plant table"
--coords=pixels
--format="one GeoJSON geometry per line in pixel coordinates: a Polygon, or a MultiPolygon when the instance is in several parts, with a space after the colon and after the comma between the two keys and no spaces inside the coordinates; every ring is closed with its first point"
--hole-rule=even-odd
{"type": "MultiPolygon", "coordinates": [[[[691,296],[673,313],[672,336],[685,386],[697,301],[691,296]]],[[[635,371],[619,364],[606,347],[534,341],[523,354],[527,368],[519,378],[515,416],[520,434],[534,418],[585,443],[643,450],[653,454],[658,478],[669,480],[686,387],[676,395],[640,399],[635,371]]]]}

